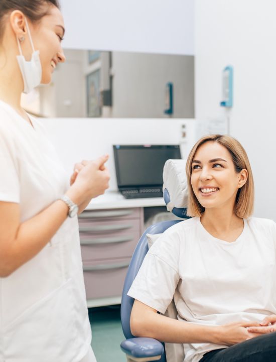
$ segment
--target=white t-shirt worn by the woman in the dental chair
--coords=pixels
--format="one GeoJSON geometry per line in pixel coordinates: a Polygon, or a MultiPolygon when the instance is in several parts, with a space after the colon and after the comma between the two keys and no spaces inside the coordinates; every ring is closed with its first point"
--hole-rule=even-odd
{"type": "MultiPolygon", "coordinates": [[[[194,217],[170,227],[151,247],[128,291],[165,313],[174,302],[178,319],[202,325],[261,321],[276,314],[276,223],[244,219],[233,243],[207,232],[194,217]]],[[[184,343],[185,362],[226,346],[184,343]]]]}

